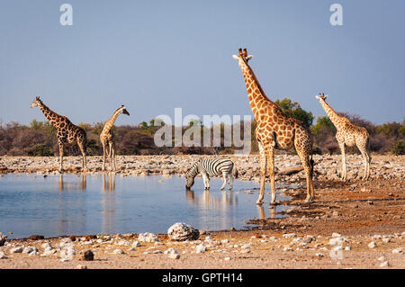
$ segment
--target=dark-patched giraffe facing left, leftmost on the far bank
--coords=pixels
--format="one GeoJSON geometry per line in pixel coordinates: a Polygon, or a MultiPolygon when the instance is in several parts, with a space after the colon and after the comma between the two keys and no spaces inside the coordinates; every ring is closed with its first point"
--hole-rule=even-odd
{"type": "Polygon", "coordinates": [[[77,146],[82,152],[83,171],[87,169],[85,160],[85,145],[87,142],[85,130],[74,125],[67,117],[53,112],[49,107],[42,103],[40,97],[37,96],[31,103],[31,108],[39,107],[50,124],[57,129],[58,147],[59,147],[59,169],[60,174],[63,173],[63,146],[66,142],[72,143],[76,140],[77,146]]]}

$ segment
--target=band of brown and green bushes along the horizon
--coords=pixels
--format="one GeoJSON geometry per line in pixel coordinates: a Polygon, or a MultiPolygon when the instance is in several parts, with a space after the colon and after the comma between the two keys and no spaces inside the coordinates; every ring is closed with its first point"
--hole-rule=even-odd
{"type": "MultiPolygon", "coordinates": [[[[290,99],[277,100],[282,110],[296,119],[301,120],[311,130],[314,145],[313,152],[317,154],[339,154],[338,142],[335,139],[336,128],[327,116],[317,118],[312,124],[314,117],[311,112],[302,110],[298,103],[293,103],[290,99]]],[[[396,155],[405,154],[405,119],[401,123],[392,121],[381,125],[374,125],[359,116],[340,112],[354,124],[365,127],[371,135],[371,151],[377,153],[392,153],[396,155]]],[[[80,127],[87,133],[87,154],[103,155],[103,148],[100,143],[100,133],[103,130],[103,122],[94,124],[81,123],[80,127]]],[[[240,139],[245,138],[243,121],[237,125],[234,123],[230,128],[237,127],[240,130],[240,139]]],[[[204,129],[211,130],[218,126],[204,127],[201,121],[191,121],[186,127],[172,127],[172,142],[175,143],[175,129],[185,130],[196,127],[201,129],[201,142],[203,142],[204,129]]],[[[224,147],[225,125],[220,125],[220,147],[157,147],[154,137],[161,127],[155,125],[155,120],[149,122],[142,121],[139,125],[123,125],[112,128],[115,134],[116,153],[118,155],[160,155],[160,154],[229,154],[236,148],[232,142],[231,147],[224,147]]],[[[256,121],[251,123],[250,139],[251,152],[257,153],[257,141],[254,136],[256,121]]],[[[30,125],[21,125],[12,121],[2,124],[0,122],[0,156],[57,156],[58,143],[55,128],[49,121],[31,121],[30,125]]],[[[210,139],[211,143],[213,139],[210,139]]],[[[238,145],[237,145],[238,146],[238,145]]],[[[67,145],[66,155],[79,155],[76,145],[67,145]]],[[[349,153],[357,153],[356,148],[348,148],[349,153]]],[[[293,152],[293,151],[292,151],[293,152]]]]}

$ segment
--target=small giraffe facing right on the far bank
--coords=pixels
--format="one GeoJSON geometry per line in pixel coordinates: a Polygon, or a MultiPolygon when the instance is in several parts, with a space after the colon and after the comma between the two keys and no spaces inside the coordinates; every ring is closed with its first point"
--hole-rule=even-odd
{"type": "Polygon", "coordinates": [[[120,108],[118,108],[114,113],[112,113],[112,117],[110,120],[106,121],[103,127],[103,131],[100,134],[100,140],[103,145],[103,170],[105,170],[105,154],[110,159],[110,170],[112,168],[111,162],[112,158],[114,159],[114,170],[115,170],[115,142],[114,142],[114,134],[112,132],[112,126],[114,121],[117,120],[117,117],[121,114],[130,115],[130,112],[127,111],[125,106],[122,104],[120,108]],[[106,150],[107,145],[109,146],[109,151],[106,150]]]}

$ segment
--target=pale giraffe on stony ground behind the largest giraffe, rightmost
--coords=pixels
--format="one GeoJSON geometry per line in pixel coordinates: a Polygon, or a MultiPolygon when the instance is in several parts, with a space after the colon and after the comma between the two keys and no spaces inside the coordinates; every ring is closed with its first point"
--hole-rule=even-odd
{"type": "Polygon", "coordinates": [[[320,100],[325,112],[328,114],[330,121],[335,125],[338,132],[336,133],[336,139],[338,139],[338,145],[340,152],[342,153],[342,179],[346,181],[347,179],[347,169],[346,169],[346,147],[357,146],[357,148],[362,153],[365,160],[365,174],[363,176],[364,180],[370,178],[370,135],[367,130],[363,127],[358,127],[351,123],[347,118],[338,114],[338,112],[333,111],[333,109],[326,103],[326,98],[328,95],[320,94],[315,95],[315,97],[320,100]]]}

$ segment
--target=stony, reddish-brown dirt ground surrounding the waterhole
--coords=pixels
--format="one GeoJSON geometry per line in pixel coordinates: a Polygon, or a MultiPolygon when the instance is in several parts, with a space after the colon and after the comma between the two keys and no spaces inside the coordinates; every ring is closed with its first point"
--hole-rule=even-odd
{"type": "MultiPolygon", "coordinates": [[[[275,165],[279,168],[296,166],[299,162],[298,157],[277,157],[275,165]]],[[[121,157],[120,164],[127,166],[121,166],[118,174],[171,174],[167,170],[175,170],[173,174],[178,174],[197,158],[121,157]],[[159,167],[153,168],[154,165],[159,167]]],[[[231,158],[237,163],[240,179],[258,180],[256,156],[231,158]]],[[[7,173],[22,172],[23,169],[40,174],[53,172],[49,168],[46,171],[43,166],[35,169],[32,163],[21,164],[36,160],[40,162],[38,158],[0,157],[0,166],[5,166],[7,173]]],[[[79,157],[71,157],[70,160],[79,166],[79,157]]],[[[373,156],[372,178],[366,182],[358,178],[363,172],[361,158],[348,157],[349,180],[346,183],[338,179],[339,157],[316,156],[315,161],[318,161],[314,180],[315,202],[302,203],[305,198],[302,172],[278,175],[279,181],[302,185],[298,189],[279,191],[292,196],[284,204],[294,208],[283,211],[289,215],[286,218],[249,220],[257,224],[257,229],[210,231],[202,234],[199,240],[186,243],[170,241],[162,234],[158,236],[159,242],[141,242],[140,247],[132,247],[133,242],[138,240],[136,234],[105,238],[100,235],[98,238],[75,236],[72,237],[74,241],[68,243],[65,243],[69,240],[66,238],[7,239],[0,247],[0,257],[5,257],[0,259],[0,268],[404,268],[405,157],[373,156]],[[47,242],[56,251],[41,256],[45,253],[43,245],[47,242]],[[200,245],[205,247],[205,251],[196,253],[200,245]],[[63,257],[64,246],[73,247],[75,254],[63,257]],[[12,249],[18,247],[36,247],[38,251],[34,255],[14,253],[12,249]],[[170,247],[178,251],[179,259],[164,254],[170,247]],[[123,254],[113,254],[115,249],[121,249],[123,254]],[[94,261],[82,258],[85,250],[92,250],[94,261]]],[[[89,173],[97,173],[95,165],[98,164],[98,157],[92,157],[89,173]]],[[[269,206],[263,205],[262,208],[268,209],[269,206]]]]}

